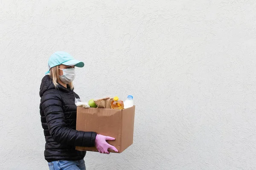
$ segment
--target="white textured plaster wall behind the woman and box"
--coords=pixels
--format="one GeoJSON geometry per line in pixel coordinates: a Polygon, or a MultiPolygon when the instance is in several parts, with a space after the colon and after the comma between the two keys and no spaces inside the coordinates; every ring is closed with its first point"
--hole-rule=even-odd
{"type": "Polygon", "coordinates": [[[0,0],[0,169],[46,170],[47,59],[85,62],[76,92],[132,94],[134,144],[89,170],[256,169],[255,0],[0,0]]]}

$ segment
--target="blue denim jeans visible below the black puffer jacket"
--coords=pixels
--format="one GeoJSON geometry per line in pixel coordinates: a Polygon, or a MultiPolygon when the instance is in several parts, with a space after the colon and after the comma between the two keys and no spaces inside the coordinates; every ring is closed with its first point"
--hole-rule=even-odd
{"type": "Polygon", "coordinates": [[[86,170],[84,159],[79,161],[52,161],[48,162],[50,170],[86,170]]]}

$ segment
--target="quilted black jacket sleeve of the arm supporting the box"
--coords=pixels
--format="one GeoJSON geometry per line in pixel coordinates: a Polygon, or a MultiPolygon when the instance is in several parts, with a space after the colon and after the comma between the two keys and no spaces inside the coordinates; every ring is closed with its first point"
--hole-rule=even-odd
{"type": "Polygon", "coordinates": [[[62,109],[61,96],[58,93],[48,93],[41,98],[50,135],[55,142],[73,146],[95,146],[96,133],[73,130],[67,127],[62,109]]]}

